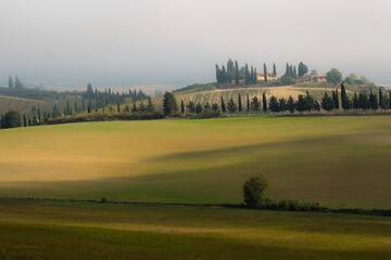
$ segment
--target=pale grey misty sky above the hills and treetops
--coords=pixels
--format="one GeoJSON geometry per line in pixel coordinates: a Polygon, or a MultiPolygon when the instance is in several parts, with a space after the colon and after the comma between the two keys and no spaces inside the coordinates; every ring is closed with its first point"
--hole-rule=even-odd
{"type": "Polygon", "coordinates": [[[0,0],[0,84],[187,84],[229,57],[391,82],[390,0],[0,0]]]}

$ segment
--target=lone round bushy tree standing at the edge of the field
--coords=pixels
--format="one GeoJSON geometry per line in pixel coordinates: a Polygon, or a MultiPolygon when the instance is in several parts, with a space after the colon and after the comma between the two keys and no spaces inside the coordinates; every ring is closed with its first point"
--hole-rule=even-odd
{"type": "Polygon", "coordinates": [[[270,186],[264,176],[251,177],[243,184],[244,203],[251,207],[260,207],[264,202],[264,191],[270,186]]]}

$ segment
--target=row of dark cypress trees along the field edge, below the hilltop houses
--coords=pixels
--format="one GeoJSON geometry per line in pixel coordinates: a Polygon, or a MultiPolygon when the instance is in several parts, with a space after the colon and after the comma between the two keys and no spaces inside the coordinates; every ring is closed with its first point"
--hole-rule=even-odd
{"type": "Polygon", "coordinates": [[[349,98],[346,94],[346,89],[343,83],[341,83],[341,92],[339,93],[338,89],[332,90],[331,95],[328,92],[325,92],[321,102],[319,103],[308,91],[305,94],[299,94],[298,99],[294,100],[291,95],[288,99],[281,98],[277,99],[275,95],[272,95],[268,100],[265,93],[262,94],[262,99],[257,96],[250,98],[249,94],[242,96],[238,93],[237,98],[230,98],[228,101],[224,100],[220,96],[220,102],[205,105],[201,103],[194,103],[190,101],[188,104],[185,104],[184,101],[180,101],[180,107],[178,107],[173,93],[166,92],[163,99],[163,109],[165,116],[175,116],[178,114],[202,114],[215,112],[215,115],[219,113],[285,113],[289,112],[293,114],[294,112],[320,112],[321,109],[326,112],[339,110],[340,106],[344,112],[353,109],[357,112],[362,109],[364,113],[368,109],[374,112],[387,110],[391,107],[391,93],[384,92],[382,89],[379,89],[378,94],[370,91],[369,94],[360,92],[353,94],[353,98],[349,98]]]}

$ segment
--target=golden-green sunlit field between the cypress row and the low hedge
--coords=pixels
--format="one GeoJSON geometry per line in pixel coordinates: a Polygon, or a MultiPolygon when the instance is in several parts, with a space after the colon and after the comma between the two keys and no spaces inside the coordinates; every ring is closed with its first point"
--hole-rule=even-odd
{"type": "Polygon", "coordinates": [[[1,130],[0,196],[241,203],[263,173],[274,197],[391,208],[391,120],[240,117],[1,130]]]}

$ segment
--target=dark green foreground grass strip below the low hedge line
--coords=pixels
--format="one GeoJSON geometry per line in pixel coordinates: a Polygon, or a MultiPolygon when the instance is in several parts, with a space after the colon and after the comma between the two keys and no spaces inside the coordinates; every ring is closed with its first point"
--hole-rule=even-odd
{"type": "Polygon", "coordinates": [[[0,258],[389,259],[391,218],[0,200],[0,258]]]}

